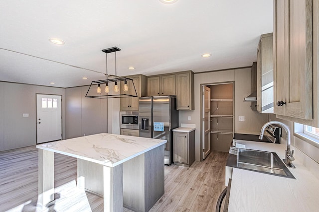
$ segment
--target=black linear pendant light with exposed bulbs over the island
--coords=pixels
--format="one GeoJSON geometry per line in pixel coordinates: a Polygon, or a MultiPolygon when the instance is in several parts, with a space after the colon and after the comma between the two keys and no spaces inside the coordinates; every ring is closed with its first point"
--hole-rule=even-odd
{"type": "MultiPolygon", "coordinates": [[[[85,97],[98,98],[98,99],[108,99],[108,98],[123,98],[123,97],[137,97],[138,96],[133,79],[127,78],[127,77],[118,77],[117,76],[117,66],[116,66],[116,52],[117,51],[121,51],[121,49],[119,49],[118,47],[112,47],[112,48],[102,50],[102,52],[106,53],[106,74],[105,74],[106,79],[92,81],[85,97]],[[115,78],[109,79],[108,78],[108,76],[109,76],[109,74],[108,74],[108,54],[112,53],[112,52],[115,52],[115,78]],[[121,82],[121,81],[124,81],[124,87],[123,87],[124,93],[110,95],[109,94],[109,92],[110,92],[109,83],[114,82],[113,93],[118,93],[120,90],[119,86],[118,86],[118,82],[121,82]],[[128,81],[132,81],[131,84],[132,84],[132,88],[134,88],[135,93],[134,92],[131,92],[132,94],[127,93],[127,91],[129,91],[128,81]],[[102,94],[101,85],[103,85],[103,84],[105,84],[104,92],[106,94],[104,94],[104,93],[102,94]]],[[[133,89],[132,89],[132,91],[133,91],[133,89]]]]}

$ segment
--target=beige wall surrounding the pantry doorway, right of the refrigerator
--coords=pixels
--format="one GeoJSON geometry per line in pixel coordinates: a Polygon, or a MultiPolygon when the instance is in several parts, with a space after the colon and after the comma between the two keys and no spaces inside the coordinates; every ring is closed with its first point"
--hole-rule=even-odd
{"type": "Polygon", "coordinates": [[[251,69],[237,69],[228,71],[215,71],[197,73],[194,75],[195,110],[179,111],[179,123],[196,124],[195,154],[200,160],[201,148],[201,84],[217,82],[235,82],[235,133],[259,134],[261,127],[268,120],[267,114],[260,114],[250,109],[250,102],[244,102],[244,97],[251,93],[251,69]],[[191,121],[188,121],[188,116],[191,121]],[[245,122],[239,122],[238,116],[245,116],[245,122]]]}

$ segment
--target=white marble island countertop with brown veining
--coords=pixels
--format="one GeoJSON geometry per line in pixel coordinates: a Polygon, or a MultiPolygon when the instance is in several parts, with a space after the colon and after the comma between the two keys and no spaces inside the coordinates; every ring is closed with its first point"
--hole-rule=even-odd
{"type": "Polygon", "coordinates": [[[36,147],[114,167],[166,142],[159,139],[101,133],[38,144],[36,147]]]}

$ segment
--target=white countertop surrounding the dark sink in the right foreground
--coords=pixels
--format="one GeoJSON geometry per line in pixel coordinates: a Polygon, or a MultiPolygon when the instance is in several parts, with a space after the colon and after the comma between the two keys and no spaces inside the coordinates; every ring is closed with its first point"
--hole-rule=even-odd
{"type": "MultiPolygon", "coordinates": [[[[246,148],[276,152],[285,156],[285,144],[241,141],[246,148]]],[[[289,169],[296,179],[278,177],[234,168],[229,198],[229,212],[315,212],[319,211],[319,178],[298,157],[296,169],[289,169]]]]}

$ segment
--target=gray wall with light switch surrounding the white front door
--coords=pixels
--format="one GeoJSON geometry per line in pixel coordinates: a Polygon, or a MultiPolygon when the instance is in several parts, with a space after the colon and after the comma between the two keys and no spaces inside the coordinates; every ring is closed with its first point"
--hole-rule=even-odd
{"type": "Polygon", "coordinates": [[[0,151],[36,144],[36,93],[62,95],[64,138],[64,90],[0,81],[0,151]],[[22,117],[23,113],[29,117],[22,117]]]}

